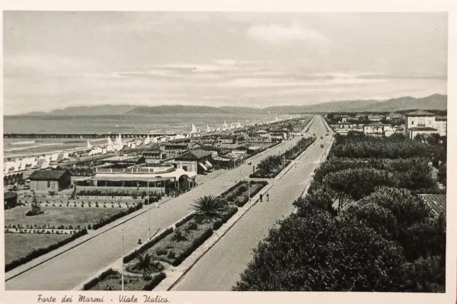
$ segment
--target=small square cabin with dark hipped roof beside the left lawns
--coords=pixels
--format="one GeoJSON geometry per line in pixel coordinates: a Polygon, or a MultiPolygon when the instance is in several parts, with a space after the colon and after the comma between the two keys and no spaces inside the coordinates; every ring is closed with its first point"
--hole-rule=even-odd
{"type": "Polygon", "coordinates": [[[29,176],[30,189],[59,192],[69,188],[71,174],[66,170],[36,170],[29,176]]]}

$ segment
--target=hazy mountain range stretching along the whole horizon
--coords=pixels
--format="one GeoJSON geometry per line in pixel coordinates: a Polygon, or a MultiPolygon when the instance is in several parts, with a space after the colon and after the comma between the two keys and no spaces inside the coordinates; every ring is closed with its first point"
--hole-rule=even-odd
{"type": "Polygon", "coordinates": [[[26,115],[158,115],[179,113],[238,114],[238,113],[325,113],[325,112],[386,112],[403,110],[446,110],[447,95],[433,94],[423,98],[404,96],[388,100],[330,101],[308,106],[270,106],[248,108],[236,106],[72,106],[51,112],[31,112],[26,115]]]}

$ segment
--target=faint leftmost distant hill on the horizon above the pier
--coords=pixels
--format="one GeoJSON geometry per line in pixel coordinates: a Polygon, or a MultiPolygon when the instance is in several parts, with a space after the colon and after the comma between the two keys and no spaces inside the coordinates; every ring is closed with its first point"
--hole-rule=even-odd
{"type": "Polygon", "coordinates": [[[131,111],[135,106],[113,106],[110,104],[100,106],[70,106],[53,110],[51,112],[31,112],[26,115],[41,116],[41,115],[62,115],[62,116],[89,116],[89,115],[122,115],[131,111]]]}

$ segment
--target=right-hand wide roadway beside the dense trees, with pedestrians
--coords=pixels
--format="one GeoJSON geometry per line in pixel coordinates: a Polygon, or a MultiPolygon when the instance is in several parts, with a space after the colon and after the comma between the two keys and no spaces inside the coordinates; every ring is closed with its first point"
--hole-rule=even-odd
{"type": "Polygon", "coordinates": [[[268,191],[270,201],[258,202],[214,245],[171,290],[229,291],[252,259],[253,249],[266,237],[276,220],[293,211],[292,203],[311,181],[311,173],[331,141],[321,117],[316,116],[309,133],[316,133],[316,145],[308,148],[268,191]],[[323,140],[321,140],[323,136],[323,140]],[[325,148],[321,148],[321,143],[325,148]]]}

